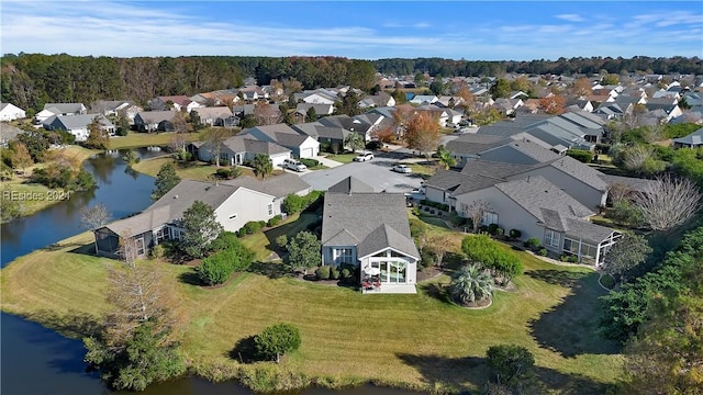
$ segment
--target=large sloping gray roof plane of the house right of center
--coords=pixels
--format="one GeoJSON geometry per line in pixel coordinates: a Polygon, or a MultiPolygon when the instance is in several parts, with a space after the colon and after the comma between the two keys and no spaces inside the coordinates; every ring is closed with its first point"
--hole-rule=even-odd
{"type": "Polygon", "coordinates": [[[495,184],[495,188],[525,208],[540,222],[545,222],[543,208],[565,217],[587,217],[593,212],[542,176],[495,184]]]}

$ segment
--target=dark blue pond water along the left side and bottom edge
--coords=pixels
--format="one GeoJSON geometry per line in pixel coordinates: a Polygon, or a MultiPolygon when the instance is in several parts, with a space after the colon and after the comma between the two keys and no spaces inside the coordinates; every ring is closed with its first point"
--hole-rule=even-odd
{"type": "MultiPolygon", "coordinates": [[[[142,158],[163,155],[138,150],[142,158]]],[[[86,161],[99,188],[76,193],[65,201],[0,228],[2,267],[16,257],[44,248],[85,230],[80,208],[101,203],[113,218],[137,213],[150,203],[154,178],[126,168],[124,153],[101,154],[86,161]]],[[[65,338],[38,324],[0,314],[0,394],[121,394],[110,392],[96,373],[87,373],[82,362],[85,349],[79,340],[65,338]]],[[[127,394],[127,393],[125,393],[127,394]]],[[[131,393],[129,393],[131,394],[131,393]]],[[[211,383],[185,377],[149,386],[144,395],[244,395],[254,392],[235,382],[211,383]]],[[[287,394],[304,395],[408,395],[409,391],[366,385],[344,391],[306,388],[287,394]]]]}

